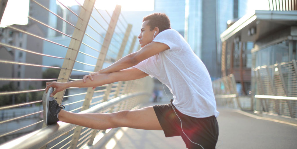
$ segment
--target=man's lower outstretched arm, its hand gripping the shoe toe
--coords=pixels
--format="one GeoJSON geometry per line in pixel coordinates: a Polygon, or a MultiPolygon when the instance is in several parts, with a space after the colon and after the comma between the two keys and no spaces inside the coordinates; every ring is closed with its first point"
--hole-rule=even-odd
{"type": "Polygon", "coordinates": [[[70,81],[70,82],[56,82],[56,81],[47,82],[45,91],[48,92],[48,89],[50,87],[55,88],[53,93],[50,95],[52,97],[57,92],[61,92],[64,89],[67,89],[69,87],[82,88],[82,87],[102,86],[104,84],[110,84],[118,81],[135,80],[146,76],[148,76],[148,74],[144,73],[143,71],[140,71],[137,68],[129,68],[129,69],[124,69],[124,70],[116,71],[112,73],[101,73],[101,74],[94,75],[93,76],[94,81],[87,79],[85,83],[83,79],[70,81]]]}

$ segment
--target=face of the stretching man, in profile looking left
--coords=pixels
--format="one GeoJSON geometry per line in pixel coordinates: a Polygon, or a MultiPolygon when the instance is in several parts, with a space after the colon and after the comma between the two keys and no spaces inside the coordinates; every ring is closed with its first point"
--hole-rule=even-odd
{"type": "Polygon", "coordinates": [[[145,45],[151,43],[154,39],[155,30],[150,31],[150,26],[147,25],[149,20],[146,20],[142,23],[141,32],[138,36],[140,47],[144,47],[145,45]]]}

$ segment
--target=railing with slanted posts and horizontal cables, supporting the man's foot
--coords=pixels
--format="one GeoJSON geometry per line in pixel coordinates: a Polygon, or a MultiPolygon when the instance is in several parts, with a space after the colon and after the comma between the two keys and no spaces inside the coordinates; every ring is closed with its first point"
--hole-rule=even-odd
{"type": "MultiPolygon", "coordinates": [[[[11,25],[1,30],[0,52],[13,54],[11,58],[4,55],[0,57],[2,69],[0,140],[2,143],[6,142],[1,146],[83,148],[92,145],[94,138],[103,137],[106,134],[105,130],[93,130],[64,123],[60,126],[45,127],[42,118],[42,96],[40,96],[45,90],[42,81],[67,82],[98,71],[119,60],[123,55],[138,50],[139,46],[135,45],[137,37],[131,35],[132,25],[127,23],[121,14],[119,5],[113,12],[108,12],[96,9],[95,0],[85,0],[83,4],[76,1],[79,9],[75,12],[57,0],[63,11],[72,14],[71,17],[65,17],[53,12],[42,2],[30,0],[30,3],[35,4],[34,9],[43,9],[56,17],[57,22],[62,22],[62,28],[53,27],[50,23],[46,24],[29,16],[31,24],[11,25]],[[51,33],[54,31],[59,38],[46,38],[42,35],[42,28],[51,33]],[[67,34],[67,31],[73,32],[67,34]],[[40,47],[35,50],[32,45],[40,47]],[[61,66],[52,65],[54,62],[61,62],[61,66]],[[50,68],[52,71],[44,68],[50,68]],[[58,70],[59,76],[42,78],[42,69],[45,73],[58,70]],[[40,129],[41,127],[44,128],[40,129]],[[36,131],[19,137],[37,129],[43,132],[39,134],[38,141],[36,138],[36,141],[29,141],[32,137],[37,137],[34,136],[38,133],[36,131]],[[28,138],[28,135],[31,137],[28,138]],[[7,142],[16,137],[19,138],[7,142]],[[27,144],[23,145],[20,142],[27,144]]],[[[64,92],[57,93],[55,97],[58,103],[65,105],[67,111],[110,113],[139,108],[139,104],[150,98],[152,88],[153,81],[146,77],[103,85],[94,90],[91,87],[68,88],[64,92]]]]}

